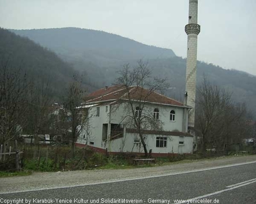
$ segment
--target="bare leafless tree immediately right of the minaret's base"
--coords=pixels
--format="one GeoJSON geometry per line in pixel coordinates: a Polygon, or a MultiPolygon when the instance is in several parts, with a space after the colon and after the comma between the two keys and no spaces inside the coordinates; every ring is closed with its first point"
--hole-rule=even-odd
{"type": "Polygon", "coordinates": [[[246,134],[246,107],[235,104],[230,92],[206,78],[197,93],[195,128],[200,149],[205,152],[207,148],[217,148],[227,152],[230,143],[239,143],[246,134]]]}

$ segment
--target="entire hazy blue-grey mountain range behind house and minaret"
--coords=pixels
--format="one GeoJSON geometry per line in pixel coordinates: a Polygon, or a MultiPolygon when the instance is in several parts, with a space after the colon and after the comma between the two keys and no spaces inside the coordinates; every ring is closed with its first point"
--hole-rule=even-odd
{"type": "MultiPolygon", "coordinates": [[[[11,30],[56,52],[73,68],[83,71],[95,87],[111,85],[124,64],[136,64],[138,59],[148,61],[154,77],[168,78],[166,94],[182,101],[186,80],[186,59],[175,56],[169,49],[143,45],[116,34],[88,29],[34,29],[11,30]]],[[[204,76],[220,87],[233,92],[234,99],[246,103],[256,116],[256,76],[243,71],[227,70],[198,62],[196,84],[204,76]]]]}

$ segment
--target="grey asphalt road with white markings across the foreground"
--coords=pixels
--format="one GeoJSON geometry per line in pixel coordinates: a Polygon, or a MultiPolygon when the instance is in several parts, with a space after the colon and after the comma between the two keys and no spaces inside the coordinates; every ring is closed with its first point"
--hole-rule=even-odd
{"type": "Polygon", "coordinates": [[[175,203],[175,200],[187,200],[186,203],[256,203],[256,161],[144,179],[0,193],[0,203],[175,203]]]}

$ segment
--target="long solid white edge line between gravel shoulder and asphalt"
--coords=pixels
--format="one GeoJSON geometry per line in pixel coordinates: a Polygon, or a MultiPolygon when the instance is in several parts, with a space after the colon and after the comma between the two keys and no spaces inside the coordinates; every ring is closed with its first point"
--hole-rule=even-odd
{"type": "Polygon", "coordinates": [[[152,178],[159,178],[159,177],[168,177],[168,176],[171,176],[171,175],[180,175],[180,174],[195,173],[195,172],[200,172],[200,171],[217,170],[217,169],[220,169],[220,168],[228,168],[228,167],[241,166],[241,165],[253,164],[253,163],[256,163],[256,161],[250,161],[250,162],[238,163],[238,164],[228,164],[228,165],[224,165],[224,166],[215,166],[215,167],[211,167],[211,168],[203,168],[203,169],[198,169],[198,170],[180,171],[180,172],[177,172],[177,173],[166,173],[166,174],[163,174],[163,175],[154,175],[154,176],[150,176],[150,177],[110,180],[110,181],[107,181],[107,182],[97,182],[97,183],[91,183],[91,184],[79,184],[79,185],[70,185],[70,186],[61,186],[61,187],[45,187],[45,188],[42,188],[42,189],[33,189],[33,190],[30,189],[30,190],[24,190],[24,191],[11,191],[11,192],[4,192],[4,193],[0,192],[0,194],[24,193],[24,192],[43,191],[43,190],[52,190],[52,189],[65,189],[65,188],[68,188],[68,187],[83,187],[83,186],[93,186],[93,185],[99,185],[99,184],[111,184],[111,183],[115,183],[115,182],[125,182],[125,181],[132,181],[132,180],[152,179],[152,178]]]}

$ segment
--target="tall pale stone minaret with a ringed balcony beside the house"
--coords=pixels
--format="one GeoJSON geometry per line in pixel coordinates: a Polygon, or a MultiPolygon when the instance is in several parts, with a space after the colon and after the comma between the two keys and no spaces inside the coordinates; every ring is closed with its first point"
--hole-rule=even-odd
{"type": "Polygon", "coordinates": [[[188,34],[187,69],[186,69],[186,92],[188,94],[187,105],[189,111],[188,127],[195,126],[195,99],[196,99],[196,56],[197,36],[200,33],[200,25],[197,24],[198,0],[189,0],[189,19],[185,31],[188,34]]]}

